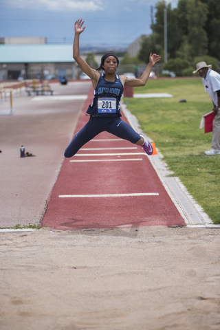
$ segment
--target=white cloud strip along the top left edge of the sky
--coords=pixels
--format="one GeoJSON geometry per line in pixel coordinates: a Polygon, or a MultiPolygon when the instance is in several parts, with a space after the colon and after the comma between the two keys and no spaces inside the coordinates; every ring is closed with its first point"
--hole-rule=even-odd
{"type": "Polygon", "coordinates": [[[96,11],[103,10],[102,0],[7,0],[1,1],[6,7],[35,10],[49,10],[53,12],[67,10],[96,11]]]}

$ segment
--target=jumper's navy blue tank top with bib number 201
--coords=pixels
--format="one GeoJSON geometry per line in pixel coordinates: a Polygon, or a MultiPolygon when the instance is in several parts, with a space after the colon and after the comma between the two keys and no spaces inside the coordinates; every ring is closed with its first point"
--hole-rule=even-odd
{"type": "Polygon", "coordinates": [[[89,105],[87,113],[96,117],[121,117],[120,100],[123,90],[118,75],[115,76],[114,82],[110,82],[104,79],[104,74],[101,74],[94,90],[94,99],[89,105]]]}

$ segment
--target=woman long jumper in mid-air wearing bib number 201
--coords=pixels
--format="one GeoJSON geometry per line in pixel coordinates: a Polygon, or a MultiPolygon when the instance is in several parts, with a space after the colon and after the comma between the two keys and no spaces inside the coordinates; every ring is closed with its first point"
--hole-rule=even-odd
{"type": "Polygon", "coordinates": [[[74,156],[85,143],[103,131],[142,146],[148,155],[152,155],[153,148],[144,135],[137,134],[129,124],[120,119],[122,116],[120,113],[120,100],[124,86],[139,87],[146,84],[151,69],[159,61],[160,56],[150,54],[148,66],[142,76],[140,78],[127,78],[115,74],[119,64],[118,57],[113,53],[108,53],[102,56],[98,70],[104,70],[104,74],[100,74],[91,69],[80,57],[79,36],[85,30],[83,23],[82,19],[78,19],[74,25],[74,60],[78,63],[80,69],[91,78],[94,87],[94,99],[87,109],[87,114],[90,115],[89,121],[83,129],[76,133],[72,142],[67,146],[65,157],[74,156]]]}

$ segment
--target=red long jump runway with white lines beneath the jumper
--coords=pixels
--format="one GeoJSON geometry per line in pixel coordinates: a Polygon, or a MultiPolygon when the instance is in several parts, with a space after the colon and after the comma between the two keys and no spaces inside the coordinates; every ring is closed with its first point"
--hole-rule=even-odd
{"type": "MultiPolygon", "coordinates": [[[[91,87],[76,132],[89,120],[93,95],[91,87]]],[[[142,148],[104,132],[64,160],[41,224],[89,230],[183,225],[184,219],[142,148]]]]}

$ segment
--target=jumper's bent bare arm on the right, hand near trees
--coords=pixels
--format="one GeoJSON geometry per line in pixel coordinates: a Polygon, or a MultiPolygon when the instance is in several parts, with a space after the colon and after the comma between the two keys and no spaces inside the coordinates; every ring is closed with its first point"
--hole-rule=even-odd
{"type": "Polygon", "coordinates": [[[149,56],[149,63],[148,66],[146,67],[144,73],[140,78],[127,78],[126,76],[120,76],[120,79],[122,80],[122,83],[124,86],[131,86],[131,87],[140,87],[140,86],[145,86],[146,82],[150,76],[151,69],[155,63],[157,63],[160,60],[161,56],[157,54],[150,54],[149,56]]]}

